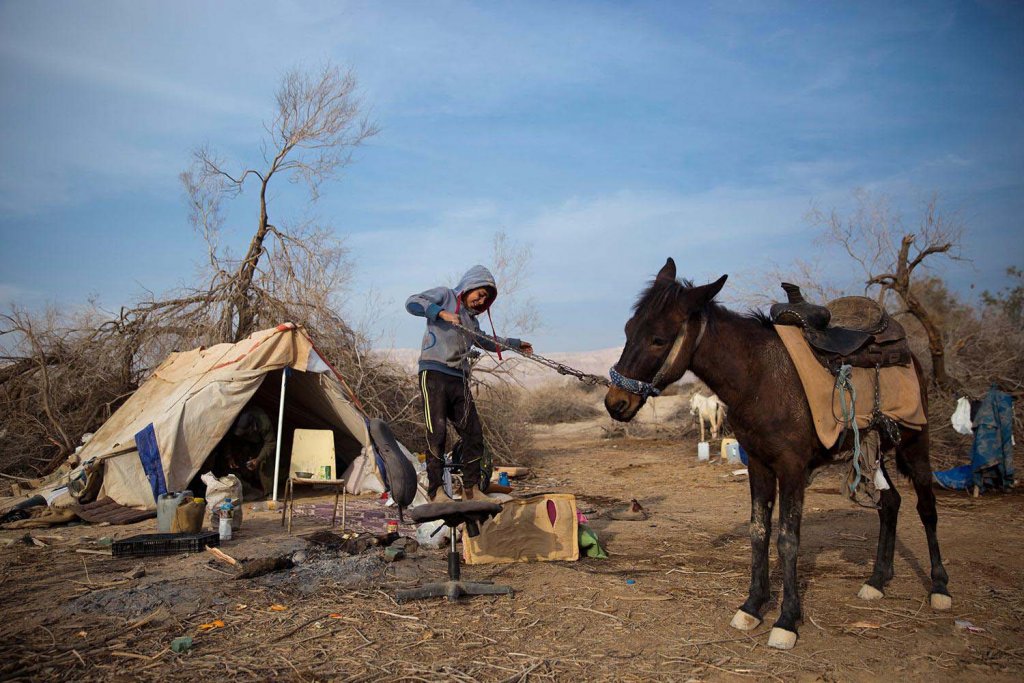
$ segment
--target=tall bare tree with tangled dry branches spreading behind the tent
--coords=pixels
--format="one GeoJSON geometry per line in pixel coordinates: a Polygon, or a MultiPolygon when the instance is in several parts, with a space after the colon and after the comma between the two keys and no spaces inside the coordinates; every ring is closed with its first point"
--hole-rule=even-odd
{"type": "Polygon", "coordinates": [[[314,201],[378,129],[361,114],[354,76],[334,66],[288,73],[275,104],[261,165],[232,171],[204,147],[181,174],[189,220],[207,245],[201,282],[150,293],[117,313],[93,305],[87,314],[14,308],[0,315],[0,470],[52,470],[170,351],[237,341],[286,321],[309,331],[358,385],[369,412],[411,413],[415,383],[371,358],[366,338],[339,313],[336,299],[350,272],[344,244],[313,220],[271,220],[275,178],[305,183],[314,201]],[[232,259],[220,244],[223,203],[246,183],[258,186],[258,219],[245,254],[232,259]]]}

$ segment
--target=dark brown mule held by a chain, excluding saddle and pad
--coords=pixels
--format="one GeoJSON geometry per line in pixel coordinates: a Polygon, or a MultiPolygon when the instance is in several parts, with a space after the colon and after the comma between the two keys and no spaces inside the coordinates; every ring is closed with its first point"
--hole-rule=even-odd
{"type": "MultiPolygon", "coordinates": [[[[762,623],[762,608],[769,598],[768,545],[777,487],[780,528],[776,545],[783,589],[780,613],[768,645],[790,649],[797,643],[798,623],[802,621],[797,555],[804,489],[809,474],[830,462],[844,444],[825,449],[817,438],[796,366],[771,321],[759,312],[735,313],[715,302],[727,278],[695,287],[688,281],[677,281],[675,261],[666,261],[626,324],[626,345],[611,369],[612,386],[604,405],[613,419],[628,422],[648,396],[657,395],[687,370],[729,405],[729,423],[750,460],[752,558],[748,597],[731,626],[752,631],[762,623]]],[[[927,411],[921,364],[916,357],[911,361],[927,411]]],[[[895,451],[896,469],[910,480],[916,494],[931,559],[931,606],[948,610],[952,598],[936,533],[938,514],[928,427],[918,431],[900,426],[896,442],[885,432],[879,433],[880,453],[895,451]]],[[[865,600],[883,598],[893,577],[900,495],[885,466],[882,473],[889,488],[881,493],[879,503],[874,566],[858,593],[865,600]]]]}

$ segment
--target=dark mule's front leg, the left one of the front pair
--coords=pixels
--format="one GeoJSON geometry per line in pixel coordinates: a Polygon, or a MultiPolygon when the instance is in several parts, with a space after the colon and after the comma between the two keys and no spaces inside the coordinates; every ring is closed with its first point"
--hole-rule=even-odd
{"type": "Polygon", "coordinates": [[[775,507],[775,473],[755,458],[749,459],[751,482],[751,590],[746,602],[732,617],[732,628],[753,631],[761,625],[761,607],[768,601],[768,544],[775,507]]]}

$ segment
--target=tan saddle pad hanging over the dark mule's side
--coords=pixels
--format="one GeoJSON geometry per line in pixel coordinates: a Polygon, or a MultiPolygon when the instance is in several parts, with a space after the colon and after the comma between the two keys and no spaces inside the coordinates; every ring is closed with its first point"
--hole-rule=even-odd
{"type": "MultiPolygon", "coordinates": [[[[793,364],[797,366],[800,383],[804,385],[807,402],[811,407],[814,429],[821,443],[830,449],[843,433],[840,394],[834,391],[836,378],[817,358],[804,339],[803,330],[786,325],[776,325],[775,332],[785,345],[793,364]]],[[[857,392],[855,412],[857,426],[867,427],[874,408],[874,370],[854,368],[851,373],[854,390],[857,392]]],[[[921,387],[913,366],[893,366],[883,368],[879,374],[879,396],[882,414],[910,429],[921,429],[928,424],[924,405],[921,403],[921,387]]]]}

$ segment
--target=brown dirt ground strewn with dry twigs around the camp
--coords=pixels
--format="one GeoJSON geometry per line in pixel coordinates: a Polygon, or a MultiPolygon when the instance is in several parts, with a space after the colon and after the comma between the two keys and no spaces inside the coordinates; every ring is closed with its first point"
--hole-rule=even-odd
{"type": "MultiPolygon", "coordinates": [[[[444,575],[444,553],[437,550],[392,564],[371,551],[233,581],[205,554],[137,560],[76,552],[96,548],[99,536],[151,531],[154,521],[35,531],[47,547],[0,548],[0,679],[1024,677],[1020,488],[980,499],[939,494],[939,538],[953,595],[952,610],[940,613],[928,605],[928,552],[912,490],[901,486],[896,577],[884,600],[863,602],[856,594],[870,573],[878,516],[837,493],[838,472],[819,476],[804,516],[800,641],[776,651],[767,647],[767,632],[777,595],[758,630],[743,634],[728,626],[749,582],[745,478],[731,474],[735,466],[698,464],[693,437],[601,435],[597,423],[540,430],[535,475],[515,483],[519,494],[575,494],[611,557],[464,568],[465,579],[512,586],[511,598],[395,603],[396,589],[444,575]],[[633,498],[650,512],[648,520],[604,515],[633,498]],[[138,564],[145,575],[126,578],[138,564]],[[215,620],[223,627],[200,628],[215,620]],[[194,638],[188,652],[170,650],[178,636],[194,638]]],[[[232,556],[305,547],[300,536],[282,531],[273,513],[247,515],[238,539],[223,546],[232,556]]],[[[312,518],[297,524],[299,533],[323,526],[312,518]]],[[[772,569],[779,590],[774,548],[772,569]]]]}

